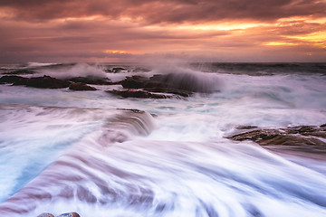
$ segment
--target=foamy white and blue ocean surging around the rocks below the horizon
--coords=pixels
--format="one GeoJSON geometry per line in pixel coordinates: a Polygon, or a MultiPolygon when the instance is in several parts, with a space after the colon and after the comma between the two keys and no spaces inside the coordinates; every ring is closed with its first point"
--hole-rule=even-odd
{"type": "Polygon", "coordinates": [[[228,138],[241,126],[325,124],[326,63],[29,62],[0,73],[111,82],[0,84],[1,217],[326,216],[323,153],[228,138]],[[112,92],[158,74],[192,94],[112,92]]]}

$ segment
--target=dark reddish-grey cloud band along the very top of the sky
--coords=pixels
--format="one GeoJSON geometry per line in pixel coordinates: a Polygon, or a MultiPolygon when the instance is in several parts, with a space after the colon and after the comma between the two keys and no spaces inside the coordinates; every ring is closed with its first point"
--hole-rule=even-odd
{"type": "Polygon", "coordinates": [[[20,19],[56,19],[103,15],[129,17],[150,24],[220,20],[271,21],[293,15],[323,15],[318,0],[5,0],[0,6],[20,19]]]}

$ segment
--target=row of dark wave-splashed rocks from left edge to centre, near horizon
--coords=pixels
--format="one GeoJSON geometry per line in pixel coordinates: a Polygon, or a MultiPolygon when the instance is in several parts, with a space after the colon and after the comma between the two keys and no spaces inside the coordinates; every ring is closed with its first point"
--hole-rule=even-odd
{"type": "Polygon", "coordinates": [[[75,77],[70,79],[56,79],[51,76],[25,78],[17,75],[5,75],[0,78],[0,84],[11,83],[14,86],[39,89],[65,89],[69,90],[96,90],[91,85],[116,85],[123,89],[107,90],[108,93],[122,98],[145,99],[184,99],[195,92],[210,93],[202,86],[194,85],[194,78],[178,80],[173,74],[153,75],[150,78],[134,75],[118,82],[112,82],[107,78],[75,77]]]}

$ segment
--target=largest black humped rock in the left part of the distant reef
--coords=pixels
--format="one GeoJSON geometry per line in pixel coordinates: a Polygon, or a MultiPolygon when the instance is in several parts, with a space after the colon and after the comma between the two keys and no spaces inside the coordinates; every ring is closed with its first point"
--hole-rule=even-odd
{"type": "Polygon", "coordinates": [[[67,80],[58,80],[50,76],[20,79],[14,82],[14,85],[25,85],[26,87],[40,88],[40,89],[62,89],[68,88],[70,82],[67,80]]]}

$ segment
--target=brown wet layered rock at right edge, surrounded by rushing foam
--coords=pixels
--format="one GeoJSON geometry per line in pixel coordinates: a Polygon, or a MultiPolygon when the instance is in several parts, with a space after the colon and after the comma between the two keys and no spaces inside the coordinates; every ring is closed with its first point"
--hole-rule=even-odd
{"type": "MultiPolygon", "coordinates": [[[[238,128],[238,127],[237,127],[238,128]]],[[[310,153],[326,154],[326,126],[297,126],[286,128],[258,128],[236,132],[232,140],[252,140],[261,146],[288,146],[310,153]]]]}

